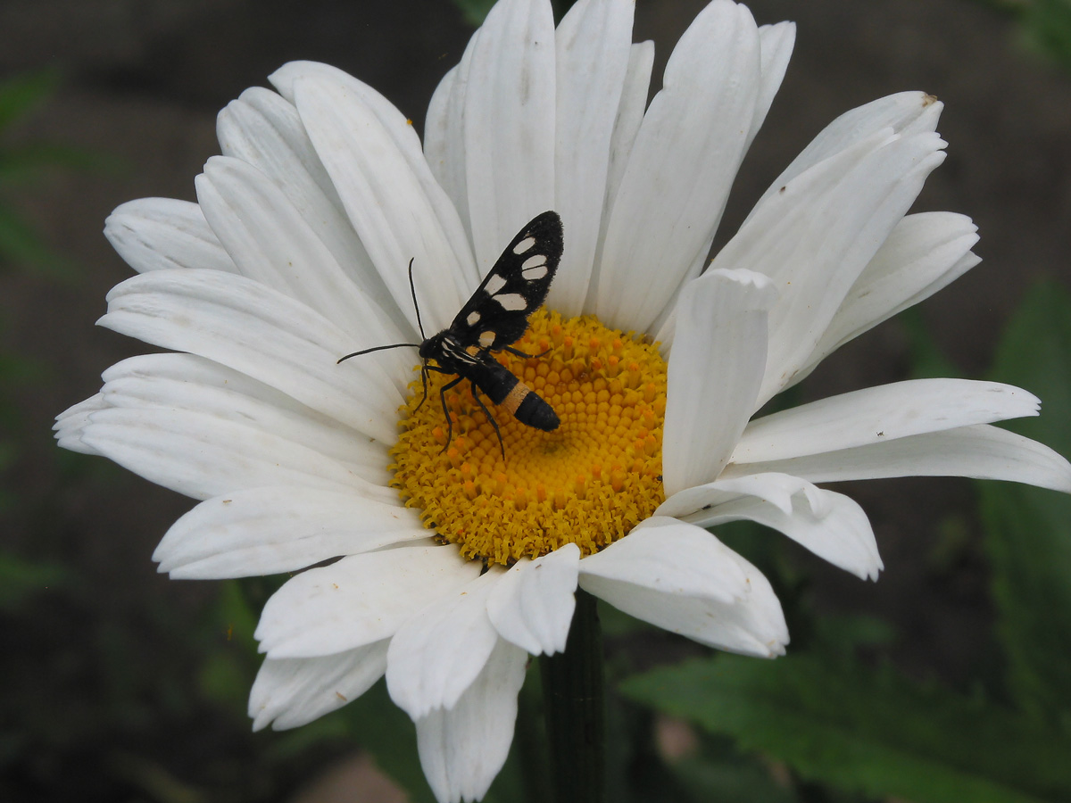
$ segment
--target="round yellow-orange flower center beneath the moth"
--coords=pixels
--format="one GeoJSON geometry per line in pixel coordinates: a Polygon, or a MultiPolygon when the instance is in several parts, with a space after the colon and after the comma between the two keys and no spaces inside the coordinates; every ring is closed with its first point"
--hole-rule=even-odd
{"type": "Polygon", "coordinates": [[[591,555],[665,499],[665,361],[632,333],[545,309],[531,316],[514,348],[536,357],[503,351],[499,363],[554,408],[558,428],[522,424],[481,394],[498,422],[500,446],[463,381],[447,391],[453,420],[447,444],[439,389],[455,377],[429,372],[426,402],[417,379],[402,408],[392,485],[421,510],[425,527],[466,557],[509,565],[565,544],[591,555]]]}

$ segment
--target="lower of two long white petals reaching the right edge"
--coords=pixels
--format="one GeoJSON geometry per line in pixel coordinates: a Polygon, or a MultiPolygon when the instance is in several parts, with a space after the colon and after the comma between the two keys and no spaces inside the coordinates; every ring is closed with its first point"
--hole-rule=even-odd
{"type": "Polygon", "coordinates": [[[1049,446],[989,424],[769,463],[729,464],[722,476],[782,471],[811,482],[971,476],[1071,494],[1071,464],[1049,446]]]}

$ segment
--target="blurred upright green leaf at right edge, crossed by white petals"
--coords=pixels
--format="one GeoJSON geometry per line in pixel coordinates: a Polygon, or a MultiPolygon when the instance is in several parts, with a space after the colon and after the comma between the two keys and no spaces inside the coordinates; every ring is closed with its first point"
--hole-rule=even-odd
{"type": "MultiPolygon", "coordinates": [[[[1008,428],[1071,454],[1071,294],[1032,287],[997,349],[993,378],[1037,394],[1037,418],[1008,428]]],[[[993,567],[997,634],[1015,700],[1071,732],[1071,497],[1011,483],[980,483],[993,567]]]]}

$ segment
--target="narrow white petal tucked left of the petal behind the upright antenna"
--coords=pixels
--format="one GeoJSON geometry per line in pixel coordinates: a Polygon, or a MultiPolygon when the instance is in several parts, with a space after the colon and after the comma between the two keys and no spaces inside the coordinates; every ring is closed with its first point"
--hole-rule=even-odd
{"type": "Polygon", "coordinates": [[[274,92],[253,87],[220,112],[216,133],[223,154],[248,163],[275,182],[350,281],[389,315],[398,331],[409,331],[408,319],[394,304],[346,217],[298,110],[274,92]]]}

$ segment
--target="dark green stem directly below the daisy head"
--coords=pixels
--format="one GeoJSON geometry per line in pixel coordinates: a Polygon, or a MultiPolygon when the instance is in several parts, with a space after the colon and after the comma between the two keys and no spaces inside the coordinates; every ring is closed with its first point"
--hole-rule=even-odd
{"type": "Polygon", "coordinates": [[[555,803],[605,803],[606,709],[595,599],[576,591],[565,651],[540,657],[555,803]]]}

